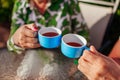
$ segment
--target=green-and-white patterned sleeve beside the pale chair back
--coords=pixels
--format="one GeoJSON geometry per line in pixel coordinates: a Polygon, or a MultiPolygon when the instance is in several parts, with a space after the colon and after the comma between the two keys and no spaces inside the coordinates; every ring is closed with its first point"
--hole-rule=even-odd
{"type": "Polygon", "coordinates": [[[77,0],[70,0],[68,13],[71,18],[71,30],[73,33],[83,35],[88,39],[88,30],[80,12],[80,6],[77,0]]]}

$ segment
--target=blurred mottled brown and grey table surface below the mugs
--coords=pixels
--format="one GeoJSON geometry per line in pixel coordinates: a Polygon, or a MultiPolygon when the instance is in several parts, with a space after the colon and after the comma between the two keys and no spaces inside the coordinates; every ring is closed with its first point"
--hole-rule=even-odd
{"type": "Polygon", "coordinates": [[[87,80],[75,60],[65,57],[59,49],[27,50],[22,55],[0,49],[0,80],[15,80],[17,71],[20,75],[26,68],[24,65],[32,66],[32,73],[39,73],[38,80],[87,80]]]}

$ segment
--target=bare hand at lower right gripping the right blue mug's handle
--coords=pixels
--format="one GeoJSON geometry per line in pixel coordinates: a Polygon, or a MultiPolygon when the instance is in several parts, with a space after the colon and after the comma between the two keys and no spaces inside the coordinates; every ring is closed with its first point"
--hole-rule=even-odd
{"type": "Polygon", "coordinates": [[[102,55],[93,46],[85,50],[79,59],[78,69],[89,80],[120,80],[120,65],[102,55]]]}

